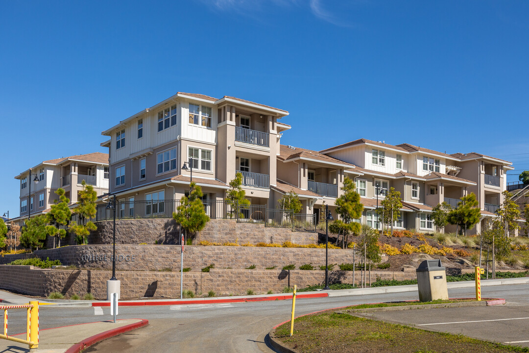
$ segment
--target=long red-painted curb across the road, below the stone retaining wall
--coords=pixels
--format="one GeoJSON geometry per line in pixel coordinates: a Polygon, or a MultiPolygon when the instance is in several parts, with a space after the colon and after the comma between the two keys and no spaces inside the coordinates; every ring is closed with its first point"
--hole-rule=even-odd
{"type": "MultiPolygon", "coordinates": [[[[297,294],[298,299],[307,298],[325,298],[329,294],[323,293],[311,293],[311,294],[297,294]]],[[[208,299],[208,300],[174,300],[174,301],[144,301],[144,302],[120,302],[120,306],[151,306],[151,305],[185,305],[185,304],[216,304],[216,303],[244,303],[244,302],[264,302],[264,301],[275,301],[275,300],[288,300],[291,299],[292,295],[275,295],[266,297],[247,297],[247,298],[236,298],[236,299],[208,299]]],[[[94,302],[92,306],[110,306],[109,302],[94,302]]]]}

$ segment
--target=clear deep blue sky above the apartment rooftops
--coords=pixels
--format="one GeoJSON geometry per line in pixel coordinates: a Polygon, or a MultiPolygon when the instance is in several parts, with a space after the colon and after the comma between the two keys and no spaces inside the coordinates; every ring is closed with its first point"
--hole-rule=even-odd
{"type": "Polygon", "coordinates": [[[526,1],[4,0],[0,13],[0,215],[19,214],[21,171],[105,152],[101,131],[178,91],[288,110],[294,146],[368,138],[529,169],[526,1]]]}

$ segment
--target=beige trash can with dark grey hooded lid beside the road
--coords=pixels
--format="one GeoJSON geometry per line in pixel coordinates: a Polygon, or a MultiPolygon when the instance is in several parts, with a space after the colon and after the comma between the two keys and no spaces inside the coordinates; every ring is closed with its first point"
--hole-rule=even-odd
{"type": "Polygon", "coordinates": [[[448,300],[446,269],[441,260],[424,260],[416,271],[420,302],[448,300]]]}

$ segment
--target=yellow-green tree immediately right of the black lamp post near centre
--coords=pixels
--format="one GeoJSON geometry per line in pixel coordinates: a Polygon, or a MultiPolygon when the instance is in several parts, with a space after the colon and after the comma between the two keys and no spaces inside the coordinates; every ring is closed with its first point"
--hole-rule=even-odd
{"type": "Polygon", "coordinates": [[[340,197],[336,198],[335,203],[336,213],[340,215],[341,220],[334,221],[333,227],[339,228],[336,243],[338,243],[340,232],[342,232],[342,247],[345,247],[349,241],[349,234],[360,233],[360,223],[355,222],[354,220],[361,218],[363,205],[360,202],[360,195],[357,193],[357,187],[349,177],[343,179],[341,190],[343,193],[340,197]]]}

